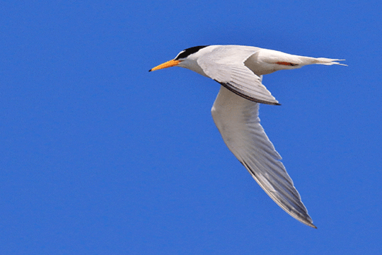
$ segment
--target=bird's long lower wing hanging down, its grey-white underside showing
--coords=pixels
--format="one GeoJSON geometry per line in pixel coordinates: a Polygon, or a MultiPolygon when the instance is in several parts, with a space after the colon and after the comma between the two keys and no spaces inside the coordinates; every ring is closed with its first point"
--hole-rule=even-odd
{"type": "Polygon", "coordinates": [[[212,106],[212,117],[228,149],[274,202],[296,220],[316,228],[280,162],[282,157],[260,125],[258,111],[258,103],[237,96],[221,86],[212,106]]]}

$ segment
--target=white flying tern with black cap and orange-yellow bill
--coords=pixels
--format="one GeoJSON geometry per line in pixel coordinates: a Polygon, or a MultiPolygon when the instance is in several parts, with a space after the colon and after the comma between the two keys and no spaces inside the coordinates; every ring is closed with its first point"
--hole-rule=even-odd
{"type": "Polygon", "coordinates": [[[244,45],[202,45],[182,50],[149,72],[183,67],[214,79],[220,86],[212,118],[226,146],[279,207],[305,225],[317,228],[282,164],[282,157],[260,125],[259,104],[279,106],[262,77],[308,64],[342,65],[337,59],[303,57],[244,45]]]}

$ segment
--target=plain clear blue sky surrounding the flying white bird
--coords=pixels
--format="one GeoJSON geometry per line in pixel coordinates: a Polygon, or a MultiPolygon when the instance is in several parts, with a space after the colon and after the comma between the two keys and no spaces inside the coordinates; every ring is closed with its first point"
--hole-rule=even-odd
{"type": "Polygon", "coordinates": [[[381,1],[1,1],[1,254],[376,254],[381,1]],[[224,145],[195,45],[346,59],[267,75],[262,125],[318,229],[224,145]]]}

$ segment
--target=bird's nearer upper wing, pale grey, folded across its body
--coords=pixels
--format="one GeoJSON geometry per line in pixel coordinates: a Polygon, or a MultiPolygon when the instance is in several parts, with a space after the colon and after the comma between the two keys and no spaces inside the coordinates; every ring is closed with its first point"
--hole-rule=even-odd
{"type": "Polygon", "coordinates": [[[199,57],[197,64],[208,77],[243,98],[257,103],[279,105],[262,79],[245,67],[245,60],[255,54],[256,47],[216,47],[199,57]]]}

